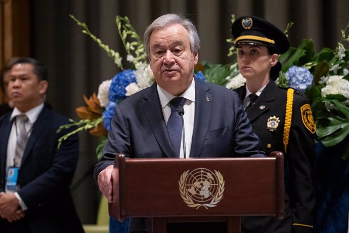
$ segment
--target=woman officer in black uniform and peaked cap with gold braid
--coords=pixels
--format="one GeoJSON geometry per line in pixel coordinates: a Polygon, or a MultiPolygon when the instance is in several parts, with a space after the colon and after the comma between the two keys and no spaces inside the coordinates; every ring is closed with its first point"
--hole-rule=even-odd
{"type": "Polygon", "coordinates": [[[287,37],[254,16],[238,18],[232,33],[239,71],[246,78],[235,91],[266,153],[281,151],[285,159],[284,218],[244,217],[242,232],[314,232],[316,126],[307,98],[274,82],[281,70],[279,54],[289,48],[287,37]]]}

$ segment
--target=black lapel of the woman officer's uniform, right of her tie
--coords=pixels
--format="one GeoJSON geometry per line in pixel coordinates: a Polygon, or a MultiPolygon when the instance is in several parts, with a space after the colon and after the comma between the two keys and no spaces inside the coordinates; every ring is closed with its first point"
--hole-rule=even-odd
{"type": "Polygon", "coordinates": [[[276,98],[276,84],[273,81],[270,81],[257,100],[254,102],[254,105],[251,107],[248,112],[248,119],[250,122],[253,122],[259,115],[267,112],[272,105],[272,102],[276,98]]]}

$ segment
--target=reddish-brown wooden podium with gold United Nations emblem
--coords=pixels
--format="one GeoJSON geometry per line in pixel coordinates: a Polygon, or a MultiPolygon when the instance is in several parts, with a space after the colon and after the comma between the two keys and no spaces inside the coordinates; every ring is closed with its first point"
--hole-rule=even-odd
{"type": "Polygon", "coordinates": [[[227,222],[241,232],[240,216],[284,215],[282,152],[268,158],[128,159],[114,162],[113,203],[118,220],[149,218],[149,232],[170,222],[227,222]]]}

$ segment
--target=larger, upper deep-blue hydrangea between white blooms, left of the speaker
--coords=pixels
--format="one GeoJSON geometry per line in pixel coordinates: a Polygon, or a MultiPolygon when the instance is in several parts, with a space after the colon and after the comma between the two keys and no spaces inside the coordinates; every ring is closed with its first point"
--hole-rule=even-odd
{"type": "Polygon", "coordinates": [[[126,90],[128,84],[136,82],[134,70],[125,69],[117,73],[110,84],[109,101],[118,102],[126,98],[126,90]]]}

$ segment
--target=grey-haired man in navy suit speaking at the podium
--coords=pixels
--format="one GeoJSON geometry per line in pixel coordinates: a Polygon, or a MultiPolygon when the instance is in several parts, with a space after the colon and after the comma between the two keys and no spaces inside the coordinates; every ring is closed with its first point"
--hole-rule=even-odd
{"type": "MultiPolygon", "coordinates": [[[[144,45],[156,83],[115,107],[103,158],[95,167],[95,179],[109,202],[117,152],[130,158],[265,156],[237,94],[194,77],[199,37],[191,21],[176,14],[157,18],[144,33],[144,45]],[[166,125],[170,128],[171,111],[178,115],[171,110],[177,97],[184,101],[186,150],[174,146],[172,133],[166,129],[166,125]]],[[[181,143],[181,132],[179,135],[181,143]]],[[[142,224],[135,225],[132,219],[130,231],[146,230],[142,224]]],[[[175,227],[169,230],[224,232],[224,227],[217,225],[197,228],[186,224],[178,231],[175,227]]]]}

